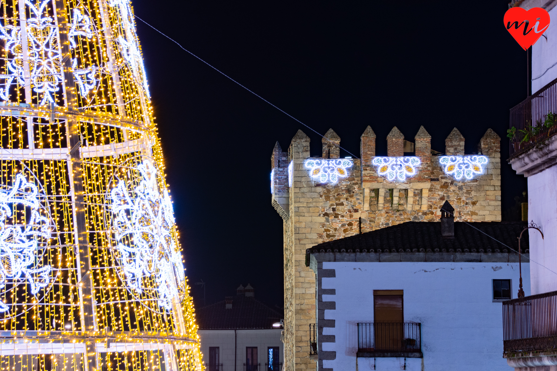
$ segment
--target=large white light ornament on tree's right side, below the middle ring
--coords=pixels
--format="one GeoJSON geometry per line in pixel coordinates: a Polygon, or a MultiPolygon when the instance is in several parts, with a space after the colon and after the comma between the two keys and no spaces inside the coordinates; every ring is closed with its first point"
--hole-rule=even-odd
{"type": "Polygon", "coordinates": [[[177,284],[185,280],[172,201],[166,189],[162,194],[159,191],[157,169],[149,161],[142,162],[136,170],[141,181],[132,195],[121,180],[110,191],[116,249],[129,288],[140,294],[144,290],[143,279],[154,277],[158,303],[170,310],[173,299],[178,298],[177,284]]]}

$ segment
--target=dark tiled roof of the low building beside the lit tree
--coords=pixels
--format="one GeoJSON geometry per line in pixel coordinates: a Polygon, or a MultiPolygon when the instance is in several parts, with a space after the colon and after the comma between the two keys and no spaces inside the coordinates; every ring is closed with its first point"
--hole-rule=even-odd
{"type": "Polygon", "coordinates": [[[226,309],[225,300],[196,309],[199,329],[272,329],[273,323],[284,318],[252,296],[237,295],[231,299],[232,309],[226,309]]]}

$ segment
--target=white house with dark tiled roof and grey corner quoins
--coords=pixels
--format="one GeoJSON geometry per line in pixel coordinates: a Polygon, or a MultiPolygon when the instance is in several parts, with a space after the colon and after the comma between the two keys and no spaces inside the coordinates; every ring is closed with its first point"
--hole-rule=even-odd
{"type": "MultiPolygon", "coordinates": [[[[444,210],[452,210],[448,202],[437,222],[306,250],[317,280],[319,371],[509,369],[501,302],[517,296],[519,256],[511,249],[525,223],[454,222],[444,210]]],[[[521,248],[529,294],[527,236],[521,248]]]]}

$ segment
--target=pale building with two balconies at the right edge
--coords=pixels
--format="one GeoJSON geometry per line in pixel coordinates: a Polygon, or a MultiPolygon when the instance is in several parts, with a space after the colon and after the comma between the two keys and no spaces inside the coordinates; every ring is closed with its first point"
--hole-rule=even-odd
{"type": "MultiPolygon", "coordinates": [[[[513,0],[544,8],[555,22],[557,1],[513,0]]],[[[538,18],[539,19],[539,18],[538,18]]],[[[534,19],[531,22],[536,22],[534,19]]],[[[531,23],[532,24],[532,23],[531,23]]],[[[545,27],[545,25],[543,26],[545,27]]],[[[541,27],[540,27],[541,28],[541,27]]],[[[531,296],[504,305],[504,357],[516,371],[557,369],[557,27],[532,45],[531,96],[510,110],[508,162],[528,180],[531,296]],[[541,233],[540,233],[541,232],[541,233]],[[542,235],[543,233],[543,235],[542,235]]],[[[509,369],[510,370],[510,369],[509,369]]]]}

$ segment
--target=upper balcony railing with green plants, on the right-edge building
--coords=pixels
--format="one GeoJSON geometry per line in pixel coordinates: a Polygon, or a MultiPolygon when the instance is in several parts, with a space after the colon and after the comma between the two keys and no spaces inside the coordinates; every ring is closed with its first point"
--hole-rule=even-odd
{"type": "Polygon", "coordinates": [[[510,157],[557,133],[557,78],[511,108],[507,133],[510,157]]]}

